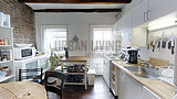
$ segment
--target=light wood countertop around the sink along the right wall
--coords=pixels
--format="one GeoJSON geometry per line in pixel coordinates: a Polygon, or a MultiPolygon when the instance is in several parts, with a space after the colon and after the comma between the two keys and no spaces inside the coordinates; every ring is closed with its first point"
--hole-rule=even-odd
{"type": "Polygon", "coordinates": [[[135,76],[132,72],[128,69],[124,68],[124,66],[137,66],[134,64],[126,64],[123,61],[112,61],[112,63],[124,70],[127,75],[129,75],[132,78],[134,78],[137,82],[139,82],[142,86],[147,87],[150,89],[154,94],[159,96],[162,99],[173,99],[175,96],[175,86],[169,85],[165,81],[158,80],[158,79],[145,79],[145,78],[139,78],[135,76]]]}

